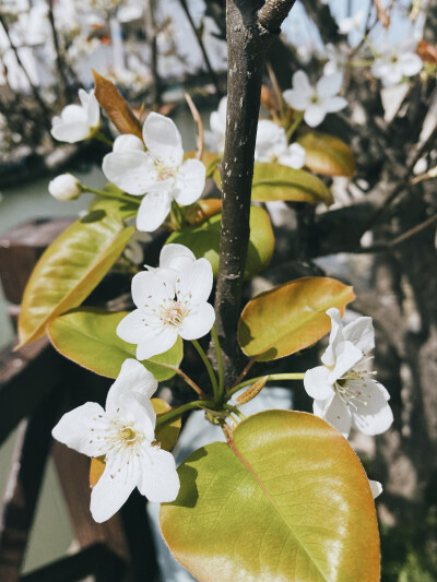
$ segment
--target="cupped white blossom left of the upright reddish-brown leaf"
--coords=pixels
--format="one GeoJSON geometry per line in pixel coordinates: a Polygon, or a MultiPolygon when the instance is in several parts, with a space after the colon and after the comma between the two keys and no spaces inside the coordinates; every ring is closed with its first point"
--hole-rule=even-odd
{"type": "Polygon", "coordinates": [[[101,109],[94,92],[79,90],[81,105],[67,105],[60,117],[51,120],[51,135],[60,142],[75,143],[88,140],[98,130],[101,109]]]}

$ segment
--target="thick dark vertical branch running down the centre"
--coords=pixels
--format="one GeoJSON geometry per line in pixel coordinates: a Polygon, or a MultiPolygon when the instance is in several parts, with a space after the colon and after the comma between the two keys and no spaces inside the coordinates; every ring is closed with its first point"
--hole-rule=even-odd
{"type": "MultiPolygon", "coordinates": [[[[292,2],[287,5],[291,9],[292,2]]],[[[250,234],[255,142],[265,54],[275,38],[260,25],[259,8],[259,3],[248,0],[227,0],[228,100],[225,151],[220,165],[223,214],[215,295],[215,325],[224,353],[226,385],[239,372],[237,323],[250,234]]],[[[286,15],[281,14],[283,19],[286,15]]],[[[277,27],[277,19],[273,21],[277,27]]]]}

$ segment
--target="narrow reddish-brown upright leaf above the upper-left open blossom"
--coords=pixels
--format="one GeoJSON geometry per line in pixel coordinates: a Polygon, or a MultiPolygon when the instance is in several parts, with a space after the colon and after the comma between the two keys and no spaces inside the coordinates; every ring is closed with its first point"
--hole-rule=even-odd
{"type": "Polygon", "coordinates": [[[118,131],[120,133],[133,133],[133,135],[142,140],[141,121],[135,117],[115,84],[98,74],[94,69],[93,76],[95,83],[94,95],[118,131]]]}

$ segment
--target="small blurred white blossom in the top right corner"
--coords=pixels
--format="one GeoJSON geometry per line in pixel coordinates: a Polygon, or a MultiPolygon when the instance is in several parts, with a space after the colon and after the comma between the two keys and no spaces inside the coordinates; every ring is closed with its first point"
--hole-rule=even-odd
{"type": "Polygon", "coordinates": [[[382,85],[397,85],[404,76],[414,76],[422,71],[423,61],[414,52],[417,41],[406,39],[397,45],[382,44],[377,48],[378,57],[371,66],[371,73],[382,85]]]}

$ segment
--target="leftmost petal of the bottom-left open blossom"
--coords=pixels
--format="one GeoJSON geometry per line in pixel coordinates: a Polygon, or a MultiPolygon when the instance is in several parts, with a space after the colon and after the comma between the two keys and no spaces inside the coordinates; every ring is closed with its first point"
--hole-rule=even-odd
{"type": "Polygon", "coordinates": [[[98,456],[101,442],[93,439],[93,428],[96,418],[103,416],[105,411],[95,402],[86,402],[82,406],[64,414],[51,435],[59,442],[63,442],[70,449],[75,449],[87,456],[98,456]]]}

